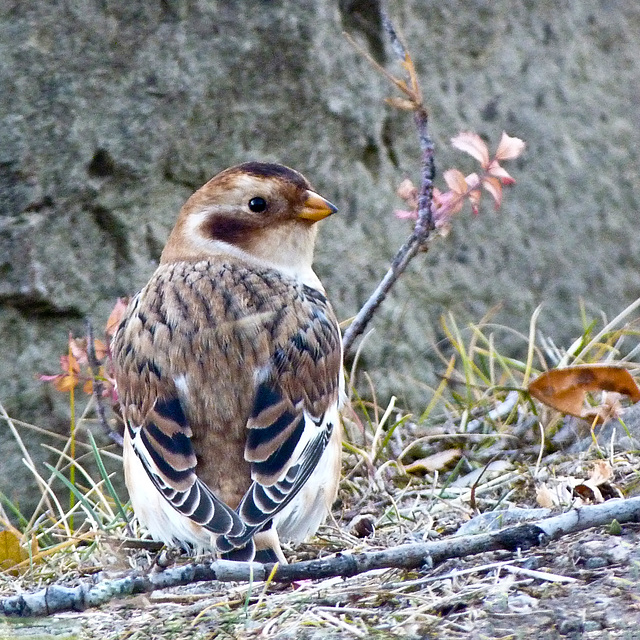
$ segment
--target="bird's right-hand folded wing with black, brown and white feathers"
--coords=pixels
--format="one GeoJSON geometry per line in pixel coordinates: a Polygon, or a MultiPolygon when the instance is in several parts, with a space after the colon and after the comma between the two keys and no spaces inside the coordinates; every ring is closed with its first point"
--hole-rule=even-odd
{"type": "Polygon", "coordinates": [[[221,536],[223,550],[242,548],[293,500],[335,426],[325,415],[340,401],[340,331],[324,296],[305,293],[305,313],[298,309],[292,328],[279,336],[281,346],[256,387],[245,447],[253,483],[237,509],[247,528],[240,536],[221,536]]]}

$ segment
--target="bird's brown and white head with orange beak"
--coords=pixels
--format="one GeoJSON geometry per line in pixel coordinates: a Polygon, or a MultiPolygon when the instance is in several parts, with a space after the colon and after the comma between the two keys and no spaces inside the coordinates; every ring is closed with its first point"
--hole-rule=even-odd
{"type": "Polygon", "coordinates": [[[318,220],[336,207],[283,165],[247,162],[219,173],[184,204],[161,262],[220,254],[311,269],[318,220]]]}

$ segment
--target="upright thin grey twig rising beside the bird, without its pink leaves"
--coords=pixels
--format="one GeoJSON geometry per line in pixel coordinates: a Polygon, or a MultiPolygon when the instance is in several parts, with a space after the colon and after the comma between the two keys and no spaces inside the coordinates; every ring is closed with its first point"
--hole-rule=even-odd
{"type": "MultiPolygon", "coordinates": [[[[418,130],[418,138],[420,140],[420,150],[422,152],[422,167],[420,172],[420,189],[418,194],[418,220],[414,227],[413,233],[407,241],[400,247],[396,253],[391,268],[371,294],[367,302],[360,309],[353,322],[344,332],[342,345],[345,352],[353,346],[356,338],[362,334],[367,324],[373,317],[380,304],[386,298],[391,287],[396,283],[402,275],[407,265],[416,256],[420,250],[426,249],[426,243],[429,234],[433,230],[433,218],[431,214],[431,201],[433,196],[433,178],[435,175],[434,158],[433,158],[433,142],[429,137],[428,123],[429,116],[427,110],[422,103],[422,94],[417,82],[417,76],[413,67],[413,62],[406,51],[405,46],[400,41],[391,20],[386,13],[382,14],[383,25],[387,36],[391,41],[391,46],[405,67],[408,76],[408,83],[394,78],[384,71],[377,63],[371,60],[371,57],[364,53],[374,66],[380,70],[397,88],[399,88],[406,96],[407,103],[413,111],[413,119],[418,130]]],[[[362,50],[355,45],[356,48],[362,50]]]]}

